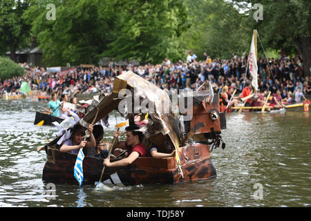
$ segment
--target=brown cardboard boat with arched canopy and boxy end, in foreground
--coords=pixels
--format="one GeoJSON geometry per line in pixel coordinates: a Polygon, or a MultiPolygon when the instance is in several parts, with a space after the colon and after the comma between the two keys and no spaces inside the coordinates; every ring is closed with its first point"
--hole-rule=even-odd
{"type": "MultiPolygon", "coordinates": [[[[147,153],[149,153],[149,148],[152,145],[156,145],[162,153],[171,153],[176,150],[179,161],[176,160],[176,157],[165,159],[138,157],[129,166],[106,167],[102,180],[100,180],[103,160],[86,155],[82,164],[83,184],[94,184],[99,180],[104,183],[124,185],[175,184],[216,177],[216,169],[211,161],[211,151],[220,146],[223,149],[225,148],[225,143],[220,134],[221,129],[226,128],[225,113],[218,111],[218,95],[214,95],[214,92],[211,94],[210,90],[182,95],[185,100],[193,101],[192,104],[189,103],[191,106],[189,105],[187,108],[187,111],[192,112],[192,117],[187,119],[189,112],[183,112],[184,122],[182,124],[180,116],[171,113],[171,111],[164,113],[158,106],[164,102],[170,107],[170,110],[173,109],[169,95],[164,90],[128,71],[115,78],[113,92],[104,97],[100,104],[86,113],[77,124],[87,128],[88,124],[98,122],[111,111],[115,109],[120,111],[118,108],[120,102],[124,102],[126,97],[129,97],[120,98],[120,93],[124,89],[133,92],[134,97],[135,91],[139,91],[140,97],[154,102],[152,104],[156,105],[156,113],[148,112],[148,120],[153,123],[150,124],[153,127],[146,124],[147,129],[145,128],[146,131],[144,131],[143,143],[147,148],[147,153]],[[134,88],[138,90],[134,90],[134,88]]],[[[129,107],[129,104],[127,105],[129,107]]],[[[131,123],[134,122],[134,117],[139,114],[122,113],[121,115],[128,118],[131,123]]],[[[64,142],[60,142],[61,139],[62,136],[59,136],[42,148],[47,155],[42,179],[45,182],[78,184],[73,172],[77,155],[60,152],[59,148],[64,142]]],[[[115,160],[111,160],[111,162],[115,160]]]]}

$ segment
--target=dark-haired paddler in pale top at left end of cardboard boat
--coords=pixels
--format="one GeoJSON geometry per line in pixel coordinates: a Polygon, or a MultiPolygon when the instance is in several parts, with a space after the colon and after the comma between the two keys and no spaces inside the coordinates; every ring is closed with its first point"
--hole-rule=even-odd
{"type": "Polygon", "coordinates": [[[80,148],[92,148],[96,146],[95,137],[93,135],[93,125],[88,125],[88,130],[90,131],[90,141],[84,141],[83,137],[85,135],[85,128],[80,124],[75,124],[73,126],[73,133],[68,140],[65,140],[64,144],[59,148],[62,153],[79,153],[80,148]]]}

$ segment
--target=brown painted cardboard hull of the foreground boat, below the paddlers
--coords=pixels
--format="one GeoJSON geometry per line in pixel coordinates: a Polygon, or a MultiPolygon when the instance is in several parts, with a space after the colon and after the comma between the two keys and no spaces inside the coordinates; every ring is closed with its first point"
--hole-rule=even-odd
{"type": "MultiPolygon", "coordinates": [[[[102,182],[124,185],[137,184],[174,184],[190,180],[206,180],[216,177],[216,169],[211,163],[209,146],[192,144],[178,149],[182,173],[178,174],[175,157],[153,159],[139,157],[129,166],[106,167],[102,182]]],[[[60,153],[57,149],[47,149],[48,160],[44,165],[45,182],[78,184],[73,175],[73,167],[77,155],[60,153]]],[[[85,157],[83,161],[84,182],[94,184],[100,180],[103,160],[85,157]]]]}

